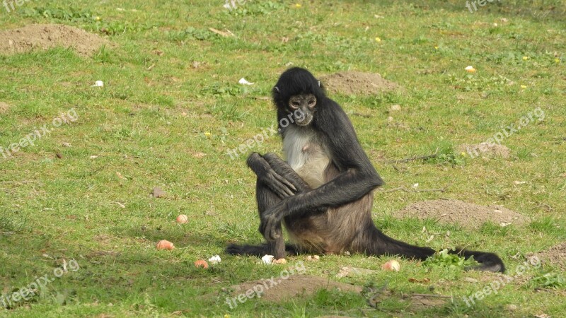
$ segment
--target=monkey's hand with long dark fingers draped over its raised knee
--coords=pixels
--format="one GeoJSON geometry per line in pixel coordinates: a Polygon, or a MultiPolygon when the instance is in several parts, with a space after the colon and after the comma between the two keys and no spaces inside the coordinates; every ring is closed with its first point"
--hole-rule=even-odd
{"type": "Polygon", "coordinates": [[[259,153],[251,153],[247,163],[248,167],[258,176],[258,181],[267,185],[281,199],[295,194],[296,187],[275,172],[259,153]]]}

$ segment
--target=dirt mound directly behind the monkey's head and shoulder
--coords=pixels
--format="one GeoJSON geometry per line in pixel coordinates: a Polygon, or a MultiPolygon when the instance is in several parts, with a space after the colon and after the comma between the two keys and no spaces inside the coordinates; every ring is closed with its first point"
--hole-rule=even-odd
{"type": "Polygon", "coordinates": [[[378,73],[345,71],[320,78],[331,93],[346,95],[371,95],[398,88],[398,85],[382,78],[378,73]]]}

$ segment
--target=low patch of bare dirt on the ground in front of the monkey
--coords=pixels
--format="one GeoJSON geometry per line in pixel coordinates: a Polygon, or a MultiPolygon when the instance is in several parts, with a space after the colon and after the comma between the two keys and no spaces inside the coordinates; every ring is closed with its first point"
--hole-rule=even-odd
{"type": "Polygon", "coordinates": [[[350,285],[345,283],[337,283],[330,281],[328,278],[310,276],[310,275],[291,275],[287,279],[277,279],[277,285],[271,286],[272,283],[267,280],[261,281],[248,281],[240,285],[233,285],[232,297],[238,296],[241,293],[246,293],[248,290],[262,290],[261,299],[280,302],[293,298],[296,295],[312,295],[319,289],[334,289],[337,288],[342,291],[351,291],[354,293],[361,293],[362,287],[357,285],[350,285]],[[268,288],[265,288],[267,285],[268,288]]]}

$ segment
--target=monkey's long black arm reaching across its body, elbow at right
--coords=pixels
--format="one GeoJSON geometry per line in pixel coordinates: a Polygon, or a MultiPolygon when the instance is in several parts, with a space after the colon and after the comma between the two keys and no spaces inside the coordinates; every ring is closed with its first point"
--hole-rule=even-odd
{"type": "Polygon", "coordinates": [[[362,198],[383,184],[345,112],[332,100],[315,115],[334,165],[342,172],[332,181],[304,194],[289,196],[262,214],[260,232],[267,239],[279,237],[275,227],[284,216],[302,215],[313,209],[342,206],[362,198]]]}

